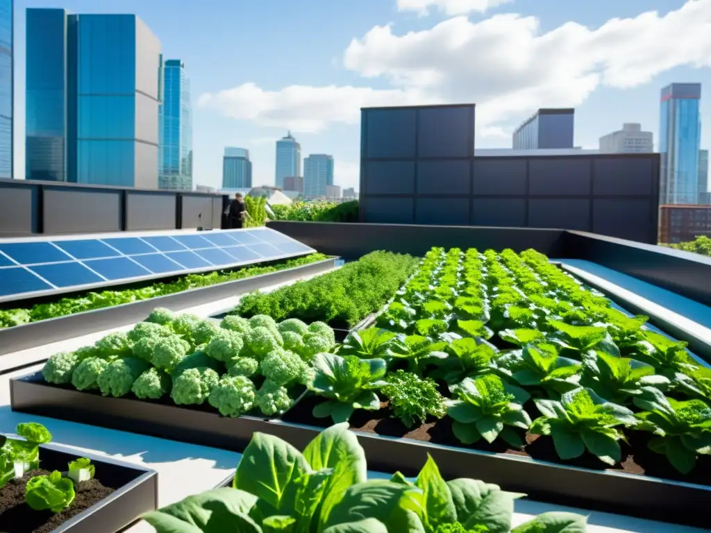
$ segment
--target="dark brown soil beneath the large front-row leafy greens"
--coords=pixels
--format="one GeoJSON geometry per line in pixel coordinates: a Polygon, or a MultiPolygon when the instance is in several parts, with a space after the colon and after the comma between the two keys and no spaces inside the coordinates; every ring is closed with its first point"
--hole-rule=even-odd
{"type": "MultiPolygon", "coordinates": [[[[296,424],[305,424],[326,428],[331,425],[331,419],[315,419],[311,416],[311,410],[316,404],[324,400],[319,397],[306,397],[299,404],[284,415],[284,421],[296,424]]],[[[538,416],[535,408],[530,409],[532,418],[538,416]]],[[[351,429],[363,431],[364,433],[390,436],[396,438],[412,438],[416,441],[431,442],[452,446],[454,448],[467,448],[471,450],[488,451],[493,453],[509,453],[517,456],[528,456],[539,461],[547,461],[561,465],[577,466],[589,468],[591,470],[609,470],[620,473],[648,475],[655,478],[683,481],[686,483],[696,483],[699,485],[711,485],[711,456],[699,456],[696,467],[688,474],[684,475],[675,470],[665,456],[654,453],[647,448],[649,434],[643,431],[626,431],[629,442],[620,442],[622,448],[622,460],[618,465],[611,467],[600,461],[591,453],[584,453],[583,456],[572,461],[562,461],[558,458],[553,447],[552,438],[533,434],[524,434],[520,431],[520,436],[525,440],[525,446],[521,449],[512,449],[505,441],[497,439],[492,444],[483,439],[470,446],[459,442],[451,431],[451,419],[445,417],[442,420],[428,417],[422,426],[407,428],[400,419],[390,418],[390,411],[387,403],[381,404],[379,411],[355,411],[351,420],[351,429]]]]}

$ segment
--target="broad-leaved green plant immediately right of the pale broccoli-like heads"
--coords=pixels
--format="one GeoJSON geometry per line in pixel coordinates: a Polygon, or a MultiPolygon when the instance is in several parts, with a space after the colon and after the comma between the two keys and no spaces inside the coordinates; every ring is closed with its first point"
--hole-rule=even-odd
{"type": "Polygon", "coordinates": [[[347,421],[355,409],[380,409],[374,389],[385,385],[381,378],[386,369],[383,359],[319,353],[314,359],[315,378],[310,388],[327,400],[314,407],[314,416],[331,416],[338,424],[347,421]]]}

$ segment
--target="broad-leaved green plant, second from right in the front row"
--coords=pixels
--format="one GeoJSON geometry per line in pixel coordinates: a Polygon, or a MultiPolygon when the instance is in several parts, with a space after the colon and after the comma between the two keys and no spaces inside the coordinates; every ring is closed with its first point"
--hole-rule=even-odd
{"type": "Polygon", "coordinates": [[[631,410],[582,387],[563,394],[560,402],[537,399],[535,404],[542,416],[533,421],[529,431],[551,436],[555,451],[564,460],[582,456],[587,448],[604,463],[619,463],[622,434],[616,426],[639,423],[631,410]]]}

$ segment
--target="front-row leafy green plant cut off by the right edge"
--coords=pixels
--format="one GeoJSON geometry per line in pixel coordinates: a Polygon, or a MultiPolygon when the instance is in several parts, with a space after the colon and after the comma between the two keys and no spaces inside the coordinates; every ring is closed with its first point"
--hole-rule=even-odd
{"type": "Polygon", "coordinates": [[[634,404],[645,411],[639,429],[656,436],[648,446],[667,456],[681,473],[693,470],[699,454],[711,455],[711,407],[699,399],[679,402],[653,387],[644,387],[634,404]]]}

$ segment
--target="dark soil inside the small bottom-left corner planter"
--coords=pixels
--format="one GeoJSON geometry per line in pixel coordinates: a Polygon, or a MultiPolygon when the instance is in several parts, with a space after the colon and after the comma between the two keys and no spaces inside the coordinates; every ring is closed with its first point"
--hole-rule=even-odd
{"type": "Polygon", "coordinates": [[[56,515],[51,511],[33,510],[25,503],[25,486],[34,476],[49,474],[47,470],[31,470],[0,489],[0,532],[49,533],[114,492],[99,480],[90,479],[75,486],[76,496],[68,509],[56,515]]]}

